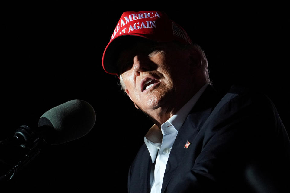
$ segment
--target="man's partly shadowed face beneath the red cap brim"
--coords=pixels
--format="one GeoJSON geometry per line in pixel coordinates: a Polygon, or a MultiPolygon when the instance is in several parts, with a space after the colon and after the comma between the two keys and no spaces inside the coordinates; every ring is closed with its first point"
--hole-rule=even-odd
{"type": "MultiPolygon", "coordinates": [[[[125,91],[145,113],[174,105],[188,89],[190,54],[173,42],[139,42],[121,52],[117,62],[125,91]]],[[[148,113],[150,114],[150,113],[148,113]]]]}

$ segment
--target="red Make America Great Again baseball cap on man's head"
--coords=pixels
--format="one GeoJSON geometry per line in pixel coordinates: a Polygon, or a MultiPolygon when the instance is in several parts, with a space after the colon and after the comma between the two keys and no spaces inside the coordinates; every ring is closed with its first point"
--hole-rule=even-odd
{"type": "Polygon", "coordinates": [[[116,60],[124,45],[147,38],[157,42],[179,41],[191,44],[186,31],[162,11],[124,12],[103,54],[103,68],[109,74],[117,74],[116,60]],[[132,36],[135,36],[133,38],[132,36]]]}

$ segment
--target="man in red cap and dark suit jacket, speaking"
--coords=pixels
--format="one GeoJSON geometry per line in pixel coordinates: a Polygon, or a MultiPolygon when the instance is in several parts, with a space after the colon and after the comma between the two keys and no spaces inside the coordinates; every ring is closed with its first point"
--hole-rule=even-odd
{"type": "Polygon", "coordinates": [[[124,12],[103,67],[155,123],[129,193],[288,191],[290,142],[272,102],[239,87],[215,92],[205,54],[165,13],[124,12]]]}

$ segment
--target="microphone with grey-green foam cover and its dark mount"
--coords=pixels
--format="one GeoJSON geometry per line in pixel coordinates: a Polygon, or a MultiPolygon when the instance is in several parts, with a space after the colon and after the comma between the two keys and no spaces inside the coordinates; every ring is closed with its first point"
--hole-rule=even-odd
{"type": "Polygon", "coordinates": [[[0,145],[21,145],[32,148],[43,139],[56,145],[86,135],[94,126],[96,115],[86,101],[71,100],[46,111],[38,121],[38,128],[22,125],[11,139],[0,141],[0,145]]]}

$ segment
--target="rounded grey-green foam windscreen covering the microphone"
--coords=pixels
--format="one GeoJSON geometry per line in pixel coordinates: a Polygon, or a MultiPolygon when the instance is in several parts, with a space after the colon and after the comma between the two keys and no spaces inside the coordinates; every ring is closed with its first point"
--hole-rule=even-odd
{"type": "Polygon", "coordinates": [[[38,128],[45,129],[42,138],[49,144],[62,144],[86,135],[94,126],[93,107],[82,100],[71,100],[45,112],[38,128]]]}

